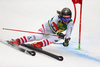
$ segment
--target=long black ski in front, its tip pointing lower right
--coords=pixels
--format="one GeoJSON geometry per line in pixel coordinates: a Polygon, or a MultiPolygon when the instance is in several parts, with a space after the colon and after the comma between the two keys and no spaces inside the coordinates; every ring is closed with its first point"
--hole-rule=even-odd
{"type": "Polygon", "coordinates": [[[55,58],[55,59],[57,59],[57,60],[59,60],[59,61],[62,61],[62,60],[63,60],[63,57],[62,57],[62,56],[58,56],[58,55],[52,54],[52,53],[50,53],[50,52],[41,50],[41,49],[39,49],[39,48],[33,47],[33,46],[30,45],[30,44],[21,44],[21,46],[24,46],[24,47],[27,47],[27,48],[29,48],[29,49],[35,50],[35,51],[37,51],[37,52],[43,53],[43,54],[48,55],[48,56],[50,56],[50,57],[52,57],[52,58],[55,58]]]}

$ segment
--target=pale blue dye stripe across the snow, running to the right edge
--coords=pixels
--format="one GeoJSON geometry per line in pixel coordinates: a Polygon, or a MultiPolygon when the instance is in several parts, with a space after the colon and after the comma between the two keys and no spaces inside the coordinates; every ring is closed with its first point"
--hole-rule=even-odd
{"type": "Polygon", "coordinates": [[[67,51],[67,52],[70,52],[70,53],[72,53],[72,54],[74,54],[74,55],[77,55],[77,56],[80,56],[80,57],[83,57],[83,58],[87,58],[87,59],[89,59],[89,60],[93,60],[93,61],[96,61],[96,62],[100,62],[100,59],[97,59],[97,58],[95,58],[95,57],[92,57],[92,56],[89,56],[89,55],[86,55],[86,54],[84,54],[84,53],[81,53],[81,52],[79,52],[78,50],[76,50],[76,49],[72,49],[72,48],[65,48],[65,47],[59,47],[60,49],[63,49],[64,51],[67,51]]]}

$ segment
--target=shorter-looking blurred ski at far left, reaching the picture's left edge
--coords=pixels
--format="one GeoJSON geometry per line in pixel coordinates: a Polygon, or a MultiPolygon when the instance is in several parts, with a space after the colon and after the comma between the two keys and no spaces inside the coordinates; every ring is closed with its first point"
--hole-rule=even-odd
{"type": "Polygon", "coordinates": [[[0,42],[3,43],[3,44],[6,44],[8,46],[11,46],[11,47],[13,47],[13,48],[15,48],[15,49],[17,49],[17,50],[19,50],[23,53],[26,53],[28,55],[35,56],[35,54],[36,54],[34,51],[29,51],[29,50],[26,50],[24,48],[21,48],[21,47],[15,45],[15,44],[11,44],[10,41],[8,41],[8,40],[6,42],[3,42],[3,41],[0,41],[0,42]]]}

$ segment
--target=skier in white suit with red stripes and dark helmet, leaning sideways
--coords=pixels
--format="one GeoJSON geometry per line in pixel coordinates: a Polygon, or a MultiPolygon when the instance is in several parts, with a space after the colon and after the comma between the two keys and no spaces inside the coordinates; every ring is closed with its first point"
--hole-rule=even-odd
{"type": "Polygon", "coordinates": [[[49,44],[53,44],[61,39],[64,39],[63,45],[68,46],[70,35],[73,29],[73,21],[71,19],[72,12],[69,8],[63,8],[61,11],[57,11],[57,15],[48,20],[48,22],[42,24],[38,32],[46,34],[57,34],[58,37],[48,36],[43,34],[35,34],[31,36],[23,36],[14,41],[10,41],[12,44],[20,45],[22,43],[39,41],[37,43],[32,43],[34,47],[41,48],[49,44]],[[66,30],[66,35],[62,32],[66,30]],[[41,41],[40,41],[41,40],[41,41]]]}

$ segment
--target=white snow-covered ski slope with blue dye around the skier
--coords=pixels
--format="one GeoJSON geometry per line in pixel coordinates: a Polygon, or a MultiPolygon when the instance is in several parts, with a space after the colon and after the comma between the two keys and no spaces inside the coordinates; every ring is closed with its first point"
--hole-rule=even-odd
{"type": "MultiPolygon", "coordinates": [[[[63,56],[63,61],[38,52],[36,56],[29,56],[0,43],[0,67],[100,67],[99,2],[99,0],[83,0],[81,50],[77,50],[80,8],[77,4],[77,19],[70,45],[64,47],[60,44],[51,44],[43,48],[63,56]]],[[[64,7],[72,10],[74,19],[71,0],[0,0],[0,40],[33,35],[4,31],[2,28],[36,31],[42,23],[55,16],[57,10],[64,7]]]]}

